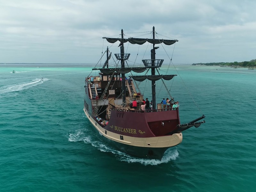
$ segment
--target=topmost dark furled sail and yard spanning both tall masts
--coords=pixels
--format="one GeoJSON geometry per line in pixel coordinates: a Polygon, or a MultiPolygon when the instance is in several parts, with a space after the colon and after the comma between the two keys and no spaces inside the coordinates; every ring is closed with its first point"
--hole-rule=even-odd
{"type": "Polygon", "coordinates": [[[108,38],[108,37],[102,37],[104,39],[106,39],[109,43],[116,43],[117,41],[120,42],[128,42],[131,44],[139,44],[142,45],[146,42],[151,43],[151,44],[160,44],[160,43],[164,43],[166,45],[172,45],[176,42],[178,42],[177,39],[148,39],[148,38],[128,38],[128,39],[122,39],[122,38],[108,38]]]}

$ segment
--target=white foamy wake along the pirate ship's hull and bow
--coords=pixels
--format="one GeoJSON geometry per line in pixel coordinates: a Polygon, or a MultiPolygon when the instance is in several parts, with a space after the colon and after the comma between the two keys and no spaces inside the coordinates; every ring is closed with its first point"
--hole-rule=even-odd
{"type": "MultiPolygon", "coordinates": [[[[89,130],[86,130],[89,131],[89,130]]],[[[100,141],[98,138],[94,138],[92,136],[93,134],[86,134],[84,130],[76,130],[73,133],[68,133],[68,140],[72,142],[76,141],[84,141],[84,143],[91,144],[93,147],[98,148],[102,152],[110,152],[114,154],[117,160],[119,161],[126,161],[128,163],[140,163],[143,165],[158,165],[162,163],[168,163],[169,161],[176,160],[179,156],[179,153],[176,148],[169,148],[164,153],[164,156],[162,160],[157,159],[141,159],[129,156],[121,151],[118,151],[108,145],[106,145],[104,142],[100,141]],[[91,135],[91,136],[88,136],[91,135]]]]}

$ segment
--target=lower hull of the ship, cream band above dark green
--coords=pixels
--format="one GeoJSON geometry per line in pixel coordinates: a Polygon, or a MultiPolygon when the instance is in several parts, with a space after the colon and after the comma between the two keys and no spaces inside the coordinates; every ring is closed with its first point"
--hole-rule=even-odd
{"type": "Polygon", "coordinates": [[[182,133],[158,137],[132,137],[113,133],[100,126],[95,119],[84,109],[85,115],[94,126],[93,131],[98,134],[100,140],[118,151],[128,155],[161,160],[164,152],[181,143],[182,133]],[[122,137],[123,140],[120,138],[122,137]]]}

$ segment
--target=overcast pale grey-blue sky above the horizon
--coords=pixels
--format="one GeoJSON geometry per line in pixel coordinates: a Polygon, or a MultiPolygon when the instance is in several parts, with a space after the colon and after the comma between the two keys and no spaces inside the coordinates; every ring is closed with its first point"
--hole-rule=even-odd
{"type": "MultiPolygon", "coordinates": [[[[255,0],[0,0],[0,63],[104,63],[107,46],[120,50],[102,37],[121,29],[139,37],[153,26],[155,38],[179,40],[159,45],[156,59],[164,63],[250,61],[255,7],[255,0]]],[[[129,62],[150,59],[151,44],[124,47],[129,62]]]]}

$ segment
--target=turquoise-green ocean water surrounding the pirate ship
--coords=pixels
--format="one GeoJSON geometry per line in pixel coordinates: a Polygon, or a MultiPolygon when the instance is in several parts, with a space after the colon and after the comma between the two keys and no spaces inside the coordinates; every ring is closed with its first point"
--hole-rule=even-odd
{"type": "MultiPolygon", "coordinates": [[[[0,191],[256,191],[256,70],[176,68],[166,85],[180,123],[202,114],[206,123],[159,161],[98,140],[83,111],[92,65],[0,64],[0,191]]],[[[169,97],[160,83],[158,103],[169,97]]],[[[148,98],[150,86],[140,84],[148,98]]]]}

